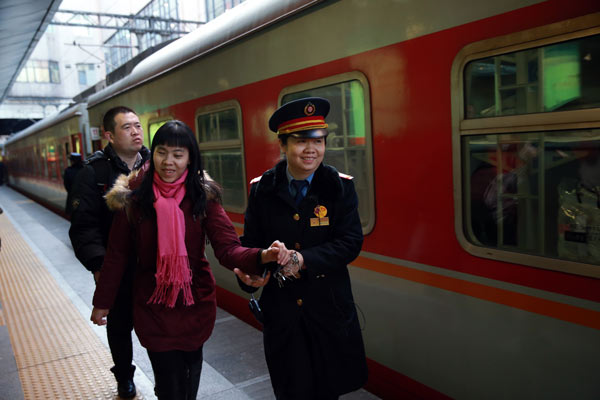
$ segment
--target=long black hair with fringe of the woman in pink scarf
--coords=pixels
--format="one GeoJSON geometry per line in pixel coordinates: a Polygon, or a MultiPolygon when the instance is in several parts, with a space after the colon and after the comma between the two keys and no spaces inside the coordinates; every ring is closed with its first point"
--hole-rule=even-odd
{"type": "Polygon", "coordinates": [[[221,202],[221,187],[212,180],[206,180],[202,167],[202,157],[194,132],[184,122],[173,120],[161,126],[152,139],[150,168],[144,175],[136,197],[140,202],[142,211],[146,215],[154,212],[154,192],[152,180],[154,178],[154,152],[157,146],[184,147],[189,153],[188,175],[185,178],[186,197],[193,204],[192,212],[195,216],[204,217],[206,201],[208,198],[221,202]]]}

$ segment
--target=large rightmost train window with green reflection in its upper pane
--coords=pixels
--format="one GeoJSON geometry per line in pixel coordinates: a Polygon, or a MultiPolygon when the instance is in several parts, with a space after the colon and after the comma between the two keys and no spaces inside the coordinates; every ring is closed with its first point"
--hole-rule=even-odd
{"type": "Polygon", "coordinates": [[[472,254],[600,277],[593,25],[575,19],[474,43],[457,56],[456,231],[472,254]],[[514,51],[502,52],[509,39],[514,51]]]}

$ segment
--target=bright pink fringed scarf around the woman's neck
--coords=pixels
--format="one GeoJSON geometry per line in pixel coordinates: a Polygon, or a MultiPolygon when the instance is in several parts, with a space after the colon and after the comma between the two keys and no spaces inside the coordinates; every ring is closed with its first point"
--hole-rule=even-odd
{"type": "Polygon", "coordinates": [[[179,204],[185,196],[185,177],[188,171],[173,183],[164,182],[154,171],[152,189],[158,227],[156,259],[156,289],[148,304],[174,307],[183,290],[183,303],[194,304],[192,297],[192,270],[185,248],[185,218],[179,204]]]}

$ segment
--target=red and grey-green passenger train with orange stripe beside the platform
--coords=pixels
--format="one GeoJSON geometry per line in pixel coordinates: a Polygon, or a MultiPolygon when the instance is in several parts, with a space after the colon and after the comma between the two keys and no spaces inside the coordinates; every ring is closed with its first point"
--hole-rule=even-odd
{"type": "MultiPolygon", "coordinates": [[[[598,71],[597,0],[247,1],[12,137],[9,183],[60,212],[67,154],[101,148],[126,105],[146,145],[193,127],[241,234],[249,182],[281,157],[269,116],[327,98],[325,162],[359,195],[366,388],[597,399],[598,71]]],[[[213,265],[219,305],[257,326],[213,265]]]]}

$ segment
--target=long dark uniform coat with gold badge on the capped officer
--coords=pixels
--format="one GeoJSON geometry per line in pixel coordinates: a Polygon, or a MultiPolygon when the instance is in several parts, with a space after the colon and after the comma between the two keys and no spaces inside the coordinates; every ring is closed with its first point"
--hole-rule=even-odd
{"type": "Polygon", "coordinates": [[[314,398],[331,398],[360,388],[367,379],[347,268],[363,241],[358,197],[350,177],[322,164],[296,207],[286,168],[281,161],[253,181],[242,244],[266,248],[280,240],[304,257],[300,279],[280,287],[271,277],[263,289],[265,355],[278,398],[301,398],[289,388],[290,374],[313,382],[314,398]]]}

